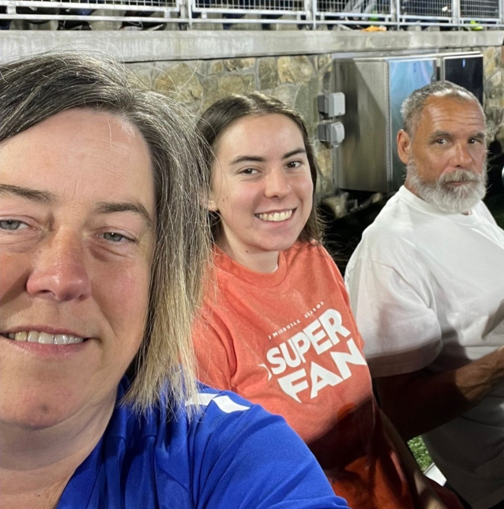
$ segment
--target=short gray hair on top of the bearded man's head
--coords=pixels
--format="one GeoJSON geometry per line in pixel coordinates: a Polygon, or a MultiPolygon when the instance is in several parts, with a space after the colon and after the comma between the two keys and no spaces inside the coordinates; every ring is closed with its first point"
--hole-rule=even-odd
{"type": "Polygon", "coordinates": [[[403,130],[406,131],[410,138],[414,138],[417,133],[417,127],[422,117],[422,112],[427,101],[431,97],[453,97],[466,101],[475,101],[485,118],[485,112],[478,98],[460,85],[451,81],[441,80],[427,84],[421,89],[412,92],[401,105],[401,116],[403,121],[403,130]]]}

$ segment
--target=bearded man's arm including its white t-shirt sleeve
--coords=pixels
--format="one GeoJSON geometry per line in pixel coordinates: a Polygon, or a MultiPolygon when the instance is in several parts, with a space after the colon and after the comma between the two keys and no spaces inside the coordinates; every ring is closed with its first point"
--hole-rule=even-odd
{"type": "MultiPolygon", "coordinates": [[[[428,370],[441,348],[441,326],[418,278],[408,282],[392,267],[365,261],[347,278],[380,406],[403,438],[461,415],[504,380],[502,348],[458,369],[428,370]]],[[[485,333],[500,327],[503,316],[504,301],[485,333]]]]}

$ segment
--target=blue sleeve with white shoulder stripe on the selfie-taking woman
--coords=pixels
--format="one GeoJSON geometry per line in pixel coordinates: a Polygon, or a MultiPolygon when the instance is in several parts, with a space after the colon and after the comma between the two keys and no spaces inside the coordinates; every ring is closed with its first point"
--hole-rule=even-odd
{"type": "Polygon", "coordinates": [[[222,392],[207,403],[191,427],[195,427],[196,507],[348,507],[334,494],[308,447],[282,417],[236,394],[222,392]]]}

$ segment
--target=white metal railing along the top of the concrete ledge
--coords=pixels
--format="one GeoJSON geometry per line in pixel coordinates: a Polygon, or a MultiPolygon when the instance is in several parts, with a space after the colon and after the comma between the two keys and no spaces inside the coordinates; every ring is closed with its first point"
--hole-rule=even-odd
{"type": "Polygon", "coordinates": [[[0,25],[22,19],[82,22],[294,24],[334,26],[440,26],[481,30],[504,27],[503,0],[0,0],[0,25]]]}

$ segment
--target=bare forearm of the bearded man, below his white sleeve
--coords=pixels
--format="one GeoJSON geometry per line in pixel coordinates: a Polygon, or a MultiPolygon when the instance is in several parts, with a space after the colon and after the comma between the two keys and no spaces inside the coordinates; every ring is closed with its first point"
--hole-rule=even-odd
{"type": "Polygon", "coordinates": [[[503,381],[504,346],[454,370],[374,379],[381,408],[405,440],[475,407],[503,381]]]}

